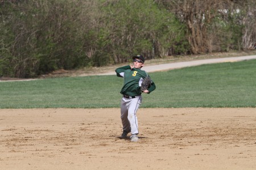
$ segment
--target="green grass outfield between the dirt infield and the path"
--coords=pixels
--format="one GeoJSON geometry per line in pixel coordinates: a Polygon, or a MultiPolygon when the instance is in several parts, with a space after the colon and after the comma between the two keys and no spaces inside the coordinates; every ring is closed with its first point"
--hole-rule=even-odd
{"type": "MultiPolygon", "coordinates": [[[[150,73],[142,108],[256,107],[256,60],[150,73]]],[[[115,75],[0,82],[0,108],[119,108],[115,75]]]]}

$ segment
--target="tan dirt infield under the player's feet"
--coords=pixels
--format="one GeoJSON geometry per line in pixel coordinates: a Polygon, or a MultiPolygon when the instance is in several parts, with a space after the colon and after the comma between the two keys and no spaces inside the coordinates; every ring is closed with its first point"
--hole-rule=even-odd
{"type": "Polygon", "coordinates": [[[1,169],[255,169],[256,108],[0,109],[1,169]]]}

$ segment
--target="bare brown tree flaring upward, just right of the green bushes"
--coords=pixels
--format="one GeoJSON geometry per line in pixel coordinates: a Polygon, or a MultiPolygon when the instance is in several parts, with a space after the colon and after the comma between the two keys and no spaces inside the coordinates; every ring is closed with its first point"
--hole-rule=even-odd
{"type": "Polygon", "coordinates": [[[187,39],[191,45],[191,53],[212,52],[208,28],[228,0],[160,0],[164,6],[175,12],[187,25],[187,39]]]}

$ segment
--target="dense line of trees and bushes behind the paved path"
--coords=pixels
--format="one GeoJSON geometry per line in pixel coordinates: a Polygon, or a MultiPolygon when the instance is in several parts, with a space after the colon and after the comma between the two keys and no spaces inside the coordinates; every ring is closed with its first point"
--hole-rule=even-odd
{"type": "Polygon", "coordinates": [[[254,49],[254,0],[0,0],[0,76],[254,49]]]}

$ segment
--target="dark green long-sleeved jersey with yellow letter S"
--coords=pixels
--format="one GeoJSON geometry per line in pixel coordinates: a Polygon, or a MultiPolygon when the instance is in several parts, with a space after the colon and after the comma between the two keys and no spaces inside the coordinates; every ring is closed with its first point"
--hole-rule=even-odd
{"type": "MultiPolygon", "coordinates": [[[[127,96],[141,95],[141,83],[146,76],[149,76],[146,71],[141,69],[131,69],[131,67],[123,66],[115,69],[117,76],[125,78],[121,94],[127,96]]],[[[148,93],[154,91],[156,88],[155,83],[152,81],[151,86],[148,88],[148,93]]]]}

